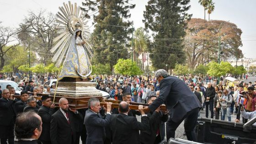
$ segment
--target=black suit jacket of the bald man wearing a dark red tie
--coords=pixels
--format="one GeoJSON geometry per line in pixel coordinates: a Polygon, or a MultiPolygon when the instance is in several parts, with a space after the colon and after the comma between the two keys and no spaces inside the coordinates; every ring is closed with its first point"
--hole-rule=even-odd
{"type": "Polygon", "coordinates": [[[75,143],[75,118],[82,118],[81,114],[68,111],[69,122],[64,114],[58,110],[51,117],[50,138],[52,144],[74,144],[75,143]],[[73,137],[73,139],[72,139],[73,137]]]}

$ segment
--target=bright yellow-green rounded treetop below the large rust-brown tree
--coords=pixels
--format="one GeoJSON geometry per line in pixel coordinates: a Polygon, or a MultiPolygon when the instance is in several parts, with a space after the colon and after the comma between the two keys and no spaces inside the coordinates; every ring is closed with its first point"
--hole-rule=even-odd
{"type": "Polygon", "coordinates": [[[222,76],[234,71],[234,67],[229,62],[221,62],[220,64],[212,61],[208,64],[207,74],[211,76],[222,76]]]}

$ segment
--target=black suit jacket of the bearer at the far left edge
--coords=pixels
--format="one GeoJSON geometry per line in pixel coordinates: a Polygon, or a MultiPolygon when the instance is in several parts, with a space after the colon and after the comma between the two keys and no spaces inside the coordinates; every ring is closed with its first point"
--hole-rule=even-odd
{"type": "Polygon", "coordinates": [[[15,101],[0,98],[0,125],[14,125],[16,119],[15,101]]]}

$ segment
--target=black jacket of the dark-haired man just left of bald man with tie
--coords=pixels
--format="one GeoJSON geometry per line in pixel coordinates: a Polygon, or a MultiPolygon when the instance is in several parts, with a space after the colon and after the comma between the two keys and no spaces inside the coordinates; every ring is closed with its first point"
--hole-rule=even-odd
{"type": "Polygon", "coordinates": [[[51,141],[50,138],[50,128],[51,128],[51,117],[55,110],[53,108],[42,106],[38,110],[38,115],[42,118],[42,133],[40,136],[40,140],[43,141],[51,141]]]}

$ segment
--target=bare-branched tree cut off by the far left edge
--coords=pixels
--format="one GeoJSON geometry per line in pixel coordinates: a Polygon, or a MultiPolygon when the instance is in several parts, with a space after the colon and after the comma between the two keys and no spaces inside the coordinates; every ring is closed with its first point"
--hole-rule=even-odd
{"type": "Polygon", "coordinates": [[[13,28],[0,26],[0,70],[5,66],[6,53],[20,44],[12,44],[16,42],[16,36],[16,32],[13,28]]]}

